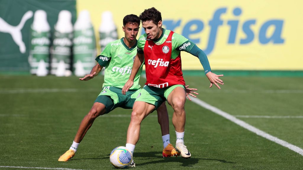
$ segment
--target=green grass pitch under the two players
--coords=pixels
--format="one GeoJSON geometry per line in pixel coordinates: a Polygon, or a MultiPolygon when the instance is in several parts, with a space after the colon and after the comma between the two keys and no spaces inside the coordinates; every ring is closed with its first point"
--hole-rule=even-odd
{"type": "MultiPolygon", "coordinates": [[[[121,108],[95,120],[74,158],[57,161],[69,149],[82,118],[100,93],[102,76],[90,81],[54,76],[2,75],[0,79],[0,169],[115,169],[109,153],[125,145],[131,113],[121,108]]],[[[225,85],[218,90],[208,88],[205,76],[185,77],[190,87],[199,89],[199,99],[303,148],[302,77],[222,79],[225,85]]],[[[175,145],[173,111],[167,106],[175,145]]],[[[189,100],[185,110],[185,145],[192,157],[161,157],[161,130],[156,113],[151,113],[142,122],[135,169],[303,169],[302,155],[189,100]]]]}

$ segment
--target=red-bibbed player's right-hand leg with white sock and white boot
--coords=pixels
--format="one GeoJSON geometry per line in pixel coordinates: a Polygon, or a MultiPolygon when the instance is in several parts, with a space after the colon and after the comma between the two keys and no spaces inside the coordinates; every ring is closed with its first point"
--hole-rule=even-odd
{"type": "Polygon", "coordinates": [[[176,141],[176,150],[181,152],[181,156],[183,158],[190,158],[191,154],[187,150],[186,146],[184,145],[183,136],[184,136],[184,129],[185,129],[185,121],[186,121],[186,114],[185,114],[185,101],[186,101],[186,93],[182,87],[176,87],[167,97],[168,104],[172,106],[174,109],[174,114],[172,117],[172,123],[175,127],[177,141],[176,141]],[[181,137],[178,137],[181,135],[181,137]]]}

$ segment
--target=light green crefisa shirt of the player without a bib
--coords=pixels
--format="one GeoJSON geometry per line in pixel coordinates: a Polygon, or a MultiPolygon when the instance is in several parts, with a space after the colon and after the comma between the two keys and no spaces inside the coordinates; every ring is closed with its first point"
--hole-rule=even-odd
{"type": "MultiPolygon", "coordinates": [[[[108,43],[102,53],[96,58],[96,61],[105,67],[104,83],[102,87],[111,86],[123,88],[128,80],[134,60],[137,54],[137,41],[132,48],[128,48],[123,38],[108,43]]],[[[143,64],[142,64],[143,66],[143,64]]],[[[137,90],[140,87],[139,78],[142,72],[142,66],[134,79],[134,85],[130,90],[137,90]]]]}

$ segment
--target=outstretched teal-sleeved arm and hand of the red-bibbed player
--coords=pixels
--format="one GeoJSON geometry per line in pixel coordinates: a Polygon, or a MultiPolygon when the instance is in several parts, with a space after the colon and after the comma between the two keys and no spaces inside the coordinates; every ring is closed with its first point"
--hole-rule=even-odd
{"type": "Polygon", "coordinates": [[[215,84],[218,89],[221,89],[221,87],[218,84],[224,84],[223,81],[219,78],[223,76],[223,74],[217,75],[215,73],[211,72],[210,64],[208,61],[208,58],[204,51],[202,51],[195,43],[193,43],[190,40],[185,41],[177,48],[178,51],[186,51],[196,57],[199,58],[200,63],[202,64],[204,68],[205,75],[207,76],[208,80],[210,81],[210,86],[212,87],[213,84],[215,84]]]}

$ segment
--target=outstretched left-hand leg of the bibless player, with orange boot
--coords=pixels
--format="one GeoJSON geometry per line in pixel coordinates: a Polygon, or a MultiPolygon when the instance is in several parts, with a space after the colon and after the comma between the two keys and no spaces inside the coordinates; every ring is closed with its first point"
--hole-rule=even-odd
{"type": "MultiPolygon", "coordinates": [[[[94,123],[95,119],[98,116],[103,115],[104,113],[105,113],[105,105],[102,103],[98,103],[98,102],[94,103],[94,105],[92,106],[92,109],[82,119],[79,129],[77,131],[77,134],[75,136],[73,145],[75,145],[75,144],[78,145],[82,141],[86,132],[94,123]]],[[[68,161],[69,159],[71,159],[72,157],[75,156],[76,149],[77,148],[69,149],[63,155],[60,156],[58,161],[68,161]]]]}

